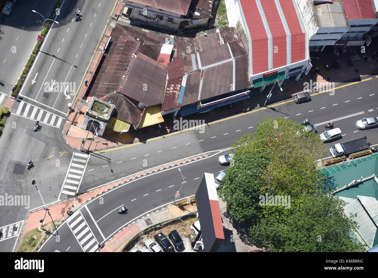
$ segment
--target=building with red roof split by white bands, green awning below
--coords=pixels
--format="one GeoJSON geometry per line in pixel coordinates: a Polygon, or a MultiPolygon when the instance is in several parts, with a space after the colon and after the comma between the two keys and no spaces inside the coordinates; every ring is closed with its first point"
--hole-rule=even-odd
{"type": "MultiPolygon", "coordinates": [[[[248,42],[249,81],[262,89],[298,79],[309,62],[306,29],[293,0],[237,0],[248,42]]],[[[243,34],[242,34],[243,37],[243,34]]]]}

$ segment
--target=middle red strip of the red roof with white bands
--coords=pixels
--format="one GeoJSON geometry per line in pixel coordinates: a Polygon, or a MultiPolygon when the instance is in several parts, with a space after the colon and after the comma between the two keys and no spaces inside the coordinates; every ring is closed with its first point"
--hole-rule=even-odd
{"type": "Polygon", "coordinates": [[[273,37],[273,68],[286,65],[286,32],[274,0],[261,2],[266,21],[273,37]]]}

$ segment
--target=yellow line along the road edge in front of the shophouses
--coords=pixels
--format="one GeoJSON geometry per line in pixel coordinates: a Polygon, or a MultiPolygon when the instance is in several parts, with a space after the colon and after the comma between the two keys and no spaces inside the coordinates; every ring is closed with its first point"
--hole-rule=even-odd
{"type": "MultiPolygon", "coordinates": [[[[364,81],[368,81],[368,80],[372,80],[372,78],[370,77],[370,78],[367,78],[367,79],[363,79],[363,80],[361,80],[361,81],[356,81],[356,82],[352,82],[352,83],[350,83],[350,84],[345,84],[345,85],[342,85],[342,86],[337,87],[337,88],[334,88],[334,89],[335,89],[335,90],[336,90],[336,89],[341,89],[341,88],[344,88],[344,87],[347,87],[347,86],[350,86],[350,85],[355,85],[355,84],[358,84],[358,83],[361,83],[361,82],[364,82],[364,81]]],[[[333,90],[333,89],[332,89],[332,90],[333,90]]],[[[321,93],[326,93],[326,92],[329,92],[329,91],[330,91],[330,90],[325,90],[325,91],[322,91],[322,92],[319,92],[319,93],[314,93],[314,94],[312,94],[311,96],[319,95],[319,94],[321,94],[321,93]]],[[[220,120],[217,120],[217,121],[213,121],[213,122],[211,122],[211,123],[202,124],[202,125],[200,125],[200,126],[191,127],[191,128],[189,128],[189,129],[178,130],[178,131],[176,131],[176,132],[174,132],[174,133],[164,135],[164,137],[168,137],[168,136],[170,136],[170,135],[174,135],[174,134],[179,134],[179,133],[181,133],[181,132],[186,132],[186,131],[188,131],[188,130],[198,129],[198,128],[202,127],[202,126],[209,126],[209,125],[211,125],[211,124],[220,123],[220,122],[222,122],[222,121],[230,120],[230,119],[233,119],[233,118],[237,118],[237,117],[240,117],[240,116],[244,116],[244,115],[246,115],[246,114],[250,114],[250,113],[258,112],[258,111],[261,111],[261,110],[264,110],[264,109],[268,109],[268,108],[270,108],[270,107],[279,106],[279,105],[282,105],[282,104],[285,104],[285,103],[290,103],[290,102],[293,102],[293,101],[294,101],[294,99],[290,99],[290,100],[288,100],[288,101],[284,101],[284,102],[282,102],[282,103],[277,103],[277,104],[273,104],[273,105],[270,105],[270,106],[267,106],[267,107],[261,107],[260,109],[257,109],[257,110],[251,110],[251,111],[246,112],[246,113],[240,113],[240,114],[238,114],[238,115],[229,116],[229,117],[227,117],[227,118],[220,119],[220,120]]],[[[133,144],[130,144],[130,145],[127,145],[127,146],[121,146],[121,147],[114,148],[114,149],[108,149],[108,150],[97,151],[97,152],[92,152],[92,153],[93,153],[93,154],[99,154],[99,153],[102,153],[102,152],[116,151],[116,150],[119,150],[119,149],[124,149],[124,148],[129,148],[129,147],[131,147],[131,146],[136,146],[136,145],[138,145],[138,144],[142,144],[142,143],[144,144],[144,143],[147,143],[147,142],[151,142],[151,141],[156,140],[156,139],[159,139],[159,138],[160,138],[160,136],[159,136],[159,137],[155,137],[155,138],[147,139],[146,141],[140,141],[140,142],[138,142],[138,143],[133,143],[133,144]]]]}

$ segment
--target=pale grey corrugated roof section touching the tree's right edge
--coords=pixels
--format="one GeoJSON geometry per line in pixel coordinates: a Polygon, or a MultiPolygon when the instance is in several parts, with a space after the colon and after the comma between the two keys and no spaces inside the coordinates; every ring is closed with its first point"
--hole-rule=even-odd
{"type": "Polygon", "coordinates": [[[344,207],[344,212],[348,217],[350,216],[350,213],[352,214],[357,213],[357,216],[354,217],[353,220],[356,221],[357,225],[359,226],[358,232],[363,237],[363,239],[367,242],[369,247],[370,248],[373,247],[377,228],[375,227],[369,215],[366,213],[366,211],[362,207],[361,203],[358,202],[357,199],[352,199],[352,198],[340,197],[340,199],[347,202],[347,204],[344,207]]]}

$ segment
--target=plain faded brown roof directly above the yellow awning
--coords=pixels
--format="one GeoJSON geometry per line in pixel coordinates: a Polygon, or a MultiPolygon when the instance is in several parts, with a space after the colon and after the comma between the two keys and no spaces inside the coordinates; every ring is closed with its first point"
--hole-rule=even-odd
{"type": "Polygon", "coordinates": [[[167,68],[137,53],[122,87],[122,93],[147,106],[163,103],[167,68]]]}

